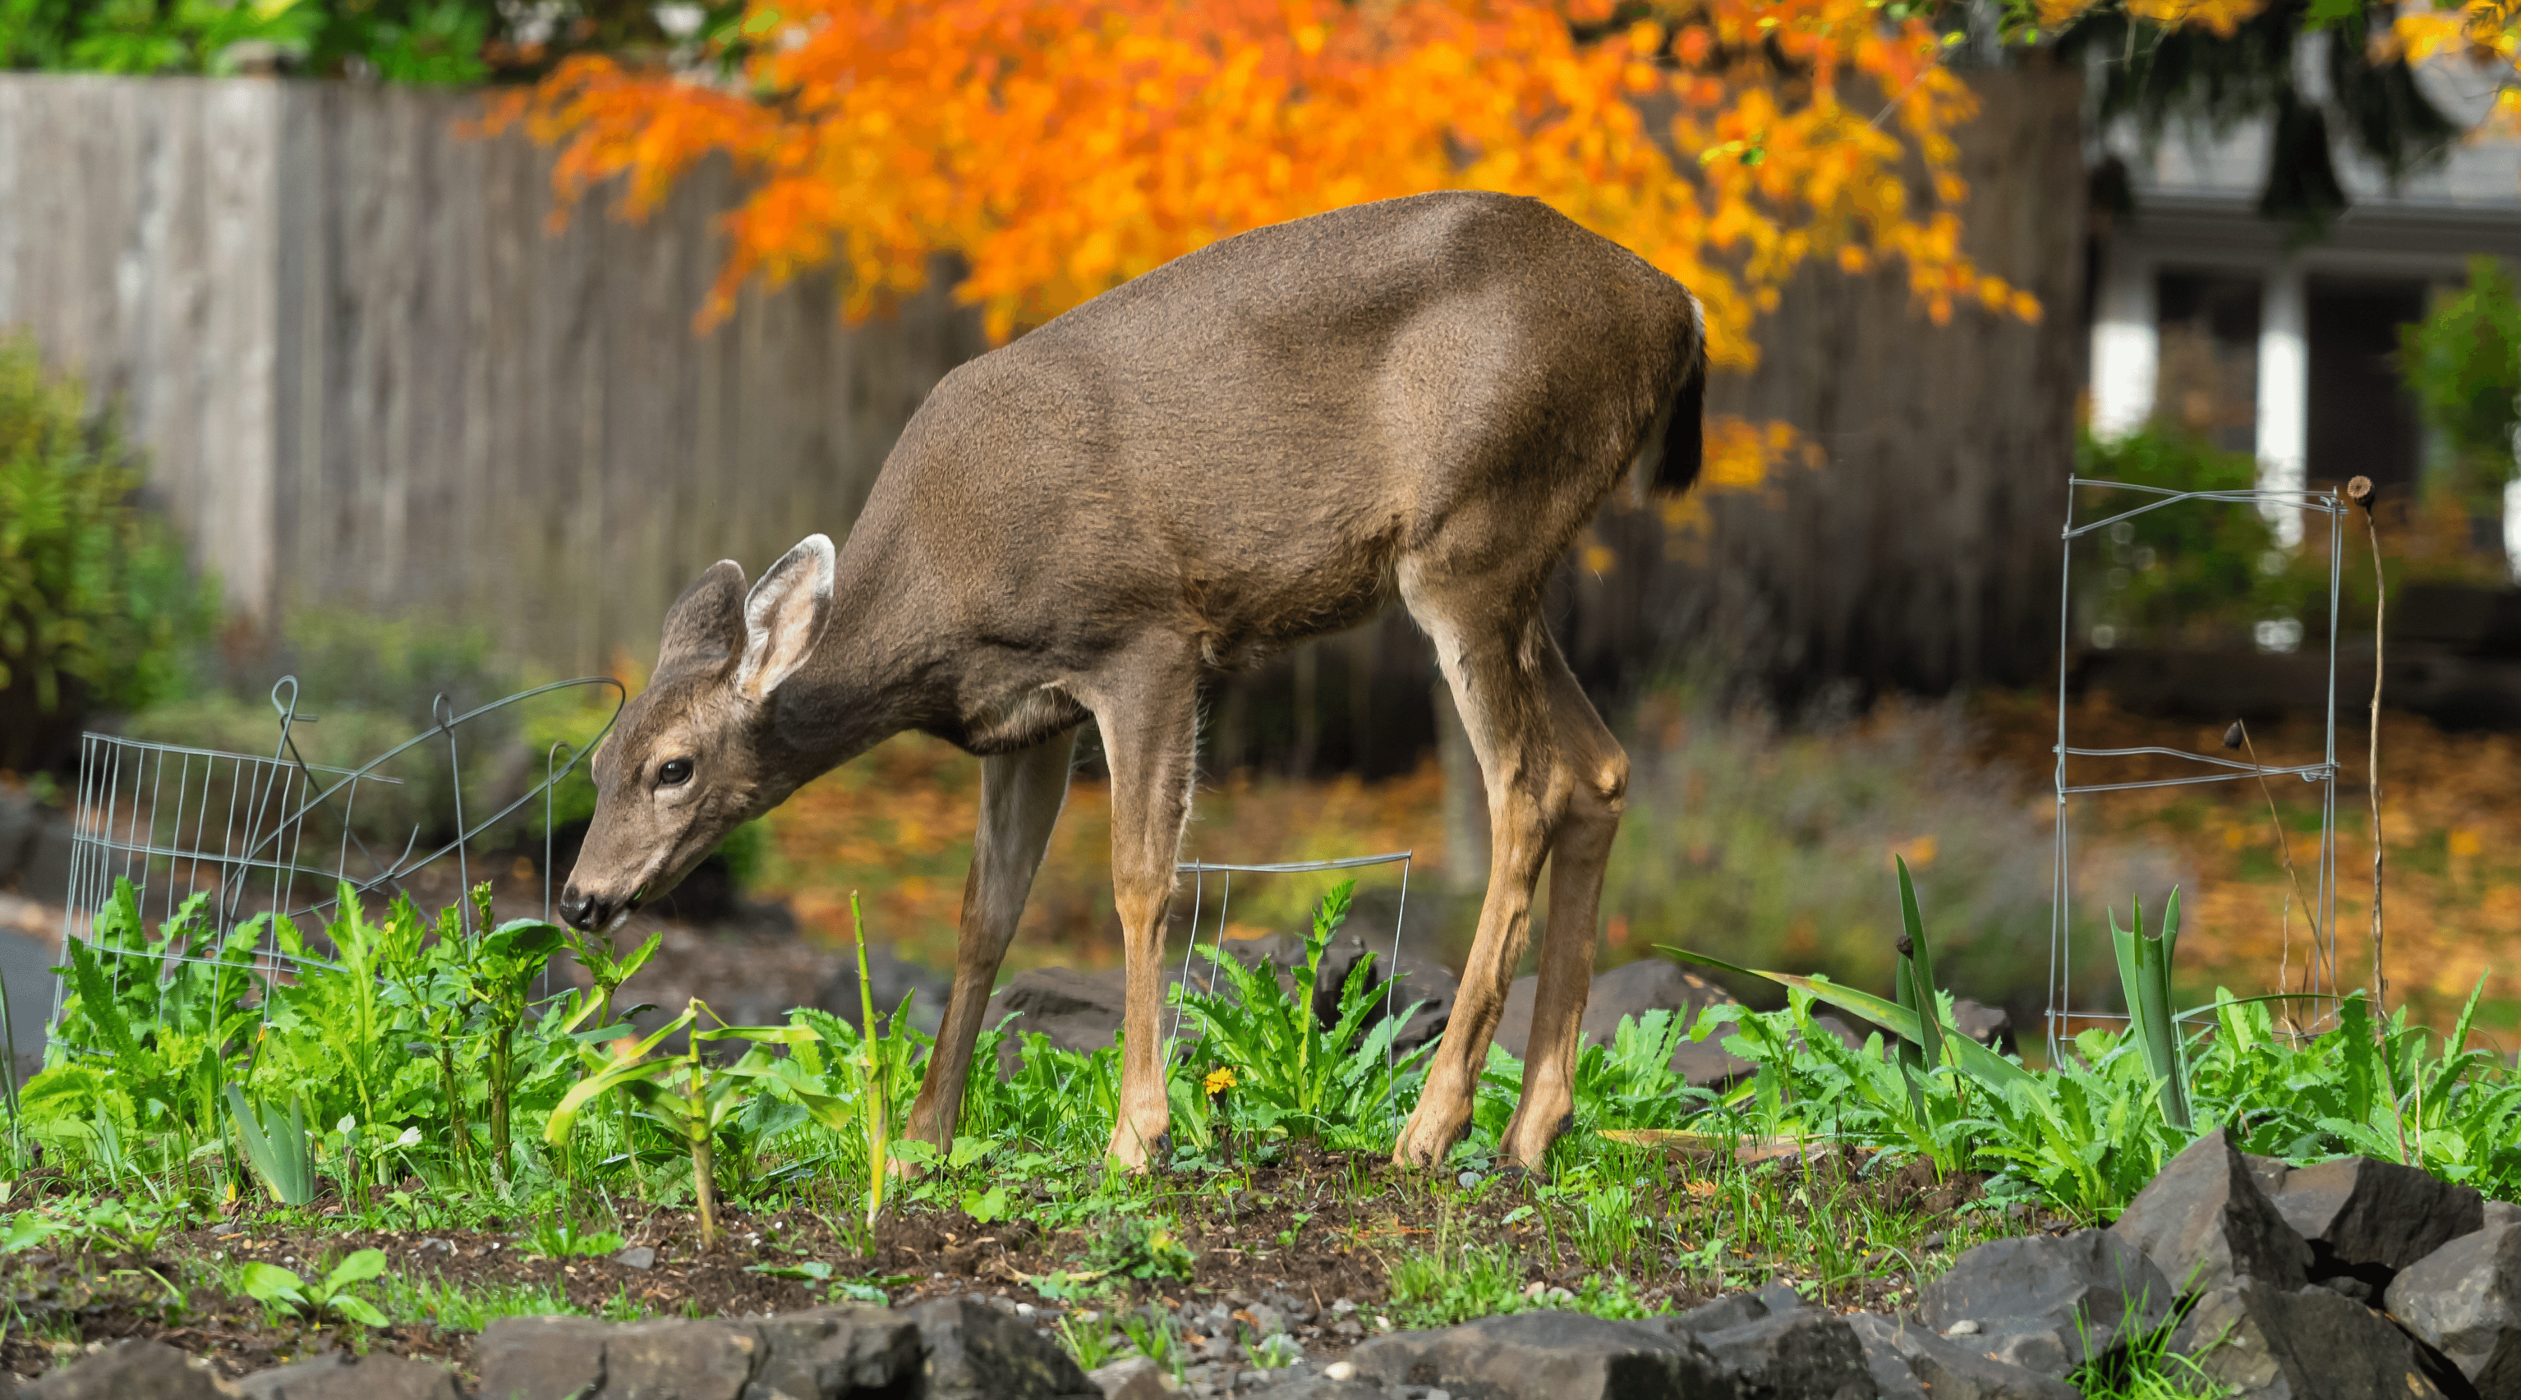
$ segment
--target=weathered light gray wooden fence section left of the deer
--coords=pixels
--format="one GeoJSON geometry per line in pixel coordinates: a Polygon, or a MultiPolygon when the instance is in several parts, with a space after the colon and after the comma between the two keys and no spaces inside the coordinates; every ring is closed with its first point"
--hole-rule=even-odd
{"type": "Polygon", "coordinates": [[[713,559],[842,534],[976,317],[842,327],[829,279],[711,335],[721,179],[552,234],[464,96],[0,76],[0,325],[124,405],[229,607],[426,612],[555,670],[653,652],[713,559]]]}

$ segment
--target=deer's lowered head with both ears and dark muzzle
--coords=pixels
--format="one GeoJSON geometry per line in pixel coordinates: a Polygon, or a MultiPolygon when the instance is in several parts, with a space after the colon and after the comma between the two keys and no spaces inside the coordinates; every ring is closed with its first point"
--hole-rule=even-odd
{"type": "Polygon", "coordinates": [[[734,559],[708,567],[666,612],[648,690],[595,748],[595,823],[560,894],[580,929],[658,899],[736,826],[787,801],[774,740],[779,687],[832,617],[832,541],[804,536],[744,589],[734,559]]]}

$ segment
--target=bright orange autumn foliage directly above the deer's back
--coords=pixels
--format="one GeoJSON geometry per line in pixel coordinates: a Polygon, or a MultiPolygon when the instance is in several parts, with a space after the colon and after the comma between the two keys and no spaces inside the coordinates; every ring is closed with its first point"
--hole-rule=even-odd
{"type": "Polygon", "coordinates": [[[693,73],[572,58],[494,121],[567,196],[658,204],[729,156],[749,194],[703,322],[837,267],[847,312],[958,254],[988,332],[1240,229],[1477,186],[1545,199],[1689,285],[1712,355],[1820,257],[1906,267],[1934,320],[2037,317],[1961,252],[1969,88],[1868,0],[751,0],[693,73]],[[1624,10],[1634,13],[1634,8],[1624,10]]]}

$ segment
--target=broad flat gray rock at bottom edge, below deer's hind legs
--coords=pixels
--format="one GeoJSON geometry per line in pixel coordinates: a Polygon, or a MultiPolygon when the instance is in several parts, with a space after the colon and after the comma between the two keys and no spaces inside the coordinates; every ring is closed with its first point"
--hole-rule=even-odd
{"type": "Polygon", "coordinates": [[[1442,1332],[1392,1332],[1349,1357],[1384,1387],[1439,1385],[1480,1400],[1707,1400],[1732,1395],[1692,1337],[1583,1312],[1515,1312],[1442,1332]]]}

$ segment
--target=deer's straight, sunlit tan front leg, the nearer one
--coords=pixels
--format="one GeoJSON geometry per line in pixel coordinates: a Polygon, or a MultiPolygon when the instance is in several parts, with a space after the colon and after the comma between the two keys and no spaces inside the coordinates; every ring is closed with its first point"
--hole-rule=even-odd
{"type": "Polygon", "coordinates": [[[1122,1010],[1119,1118],[1109,1156],[1127,1171],[1162,1161],[1165,914],[1182,851],[1195,776],[1197,670],[1190,655],[1134,672],[1114,695],[1089,697],[1112,763],[1112,896],[1119,909],[1127,1005],[1122,1010]]]}

